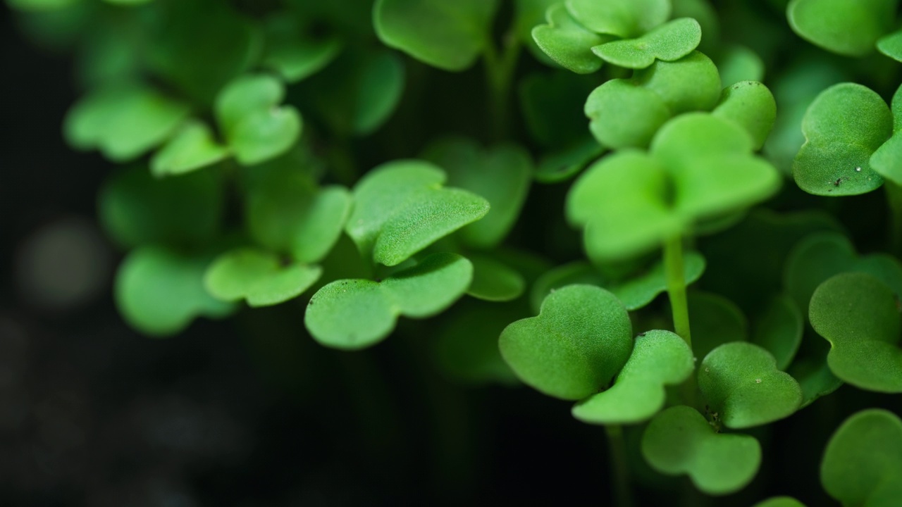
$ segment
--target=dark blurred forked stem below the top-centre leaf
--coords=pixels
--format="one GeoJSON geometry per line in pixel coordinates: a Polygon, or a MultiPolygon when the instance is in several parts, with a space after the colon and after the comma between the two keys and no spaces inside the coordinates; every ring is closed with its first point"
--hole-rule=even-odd
{"type": "Polygon", "coordinates": [[[489,121],[492,125],[492,137],[496,141],[502,141],[509,135],[511,81],[519,56],[520,41],[510,31],[504,36],[500,56],[491,41],[485,44],[483,63],[489,91],[489,121]]]}

